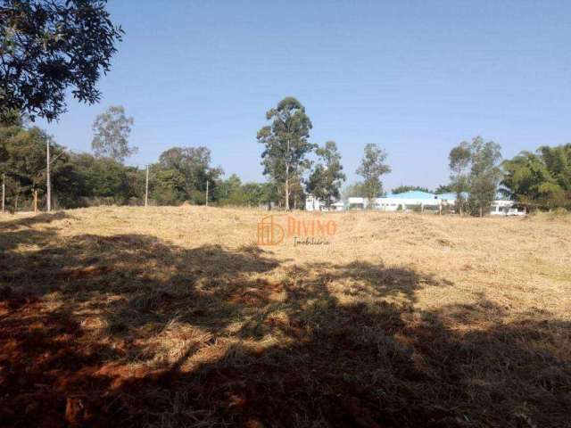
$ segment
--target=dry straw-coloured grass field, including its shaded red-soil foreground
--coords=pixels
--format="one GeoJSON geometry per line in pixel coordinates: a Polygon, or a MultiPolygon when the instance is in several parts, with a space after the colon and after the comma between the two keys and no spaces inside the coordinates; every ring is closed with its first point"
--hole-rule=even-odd
{"type": "Polygon", "coordinates": [[[571,220],[0,217],[0,425],[569,427],[571,220]]]}

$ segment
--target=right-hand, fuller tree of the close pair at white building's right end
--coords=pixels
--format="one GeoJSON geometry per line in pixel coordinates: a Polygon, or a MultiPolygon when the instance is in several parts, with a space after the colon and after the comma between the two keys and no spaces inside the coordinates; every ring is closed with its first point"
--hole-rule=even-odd
{"type": "Polygon", "coordinates": [[[470,174],[468,185],[470,194],[468,202],[475,212],[480,215],[488,210],[496,199],[498,185],[501,182],[501,147],[492,141],[484,142],[481,136],[476,136],[470,144],[470,174]]]}

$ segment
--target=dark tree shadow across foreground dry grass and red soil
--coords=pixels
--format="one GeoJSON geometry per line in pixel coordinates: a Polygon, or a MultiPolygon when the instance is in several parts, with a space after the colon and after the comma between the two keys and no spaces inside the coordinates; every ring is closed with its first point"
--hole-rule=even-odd
{"type": "Polygon", "coordinates": [[[2,426],[569,424],[569,325],[549,314],[418,310],[450,284],[407,268],[26,226],[0,235],[2,426]]]}

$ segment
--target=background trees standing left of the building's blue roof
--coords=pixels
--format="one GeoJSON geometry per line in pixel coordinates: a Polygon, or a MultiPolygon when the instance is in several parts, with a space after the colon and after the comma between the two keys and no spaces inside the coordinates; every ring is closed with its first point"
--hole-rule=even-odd
{"type": "MultiPolygon", "coordinates": [[[[183,202],[257,207],[302,208],[309,193],[327,205],[340,197],[345,175],[334,141],[322,146],[308,141],[310,119],[292,97],[269,111],[272,126],[258,140],[265,144],[261,164],[265,183],[243,183],[236,174],[211,165],[204,146],[172,147],[148,166],[148,198],[157,205],[183,202]],[[307,155],[313,153],[311,161],[307,155]],[[207,194],[208,190],[208,194],[207,194]]],[[[97,204],[141,205],[145,200],[145,168],[125,161],[137,152],[129,143],[134,119],[122,106],[111,106],[95,118],[92,152],[70,152],[18,111],[0,119],[0,174],[4,179],[9,210],[29,210],[33,194],[46,206],[46,147],[51,149],[51,182],[54,207],[79,208],[97,204]]],[[[386,154],[368,144],[360,173],[371,195],[382,189],[380,174],[389,170],[386,154]]]]}

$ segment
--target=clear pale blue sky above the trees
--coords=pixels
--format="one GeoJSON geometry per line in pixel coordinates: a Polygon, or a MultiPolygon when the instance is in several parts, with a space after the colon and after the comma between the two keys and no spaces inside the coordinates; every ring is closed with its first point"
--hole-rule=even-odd
{"type": "MultiPolygon", "coordinates": [[[[262,180],[256,132],[294,95],[311,140],[335,140],[348,183],[363,147],[388,152],[385,187],[448,181],[447,156],[481,135],[504,157],[571,142],[571,2],[110,0],[123,26],[102,103],[46,125],[88,151],[95,115],[135,118],[128,161],[206,145],[227,177],[262,180]]],[[[40,125],[45,125],[43,122],[40,125]]]]}

